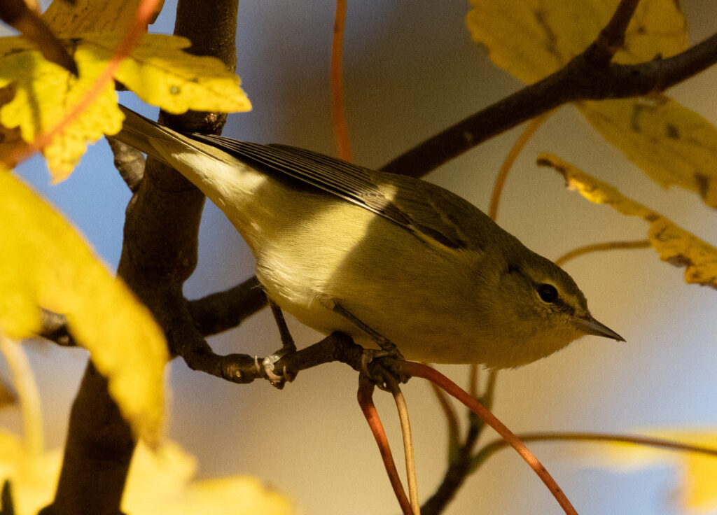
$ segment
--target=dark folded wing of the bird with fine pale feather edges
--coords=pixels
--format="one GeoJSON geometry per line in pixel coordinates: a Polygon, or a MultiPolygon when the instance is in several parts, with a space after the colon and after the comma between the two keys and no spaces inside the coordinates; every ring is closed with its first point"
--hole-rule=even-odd
{"type": "MultiPolygon", "coordinates": [[[[191,134],[267,173],[282,173],[397,223],[422,239],[453,249],[478,249],[492,221],[473,204],[440,186],[377,172],[288,145],[259,145],[215,135],[191,134]],[[467,238],[466,232],[473,233],[467,238]]],[[[500,230],[500,229],[499,229],[500,230]]],[[[488,235],[486,235],[488,236],[488,235]]]]}

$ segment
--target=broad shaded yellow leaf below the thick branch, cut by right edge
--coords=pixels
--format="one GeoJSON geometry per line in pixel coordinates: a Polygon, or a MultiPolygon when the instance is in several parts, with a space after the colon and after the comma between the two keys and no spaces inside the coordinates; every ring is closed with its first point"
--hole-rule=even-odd
{"type": "Polygon", "coordinates": [[[717,127],[664,95],[582,102],[579,110],[608,143],[661,186],[681,186],[717,208],[717,127]]]}

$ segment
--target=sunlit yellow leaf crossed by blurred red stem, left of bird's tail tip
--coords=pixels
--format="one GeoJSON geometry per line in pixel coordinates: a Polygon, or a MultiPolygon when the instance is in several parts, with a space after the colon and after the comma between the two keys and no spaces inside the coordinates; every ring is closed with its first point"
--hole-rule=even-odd
{"type": "MultiPolygon", "coordinates": [[[[6,49],[4,41],[1,49],[6,49]]],[[[16,93],[0,110],[0,123],[20,127],[22,139],[32,143],[40,133],[52,130],[77,105],[106,62],[91,49],[78,45],[73,52],[80,77],[46,61],[35,50],[15,52],[0,59],[0,87],[14,85],[16,93]]],[[[113,83],[106,84],[95,101],[80,116],[56,135],[43,153],[55,181],[62,181],[85,153],[87,142],[95,142],[105,133],[117,133],[122,127],[113,83]]]]}

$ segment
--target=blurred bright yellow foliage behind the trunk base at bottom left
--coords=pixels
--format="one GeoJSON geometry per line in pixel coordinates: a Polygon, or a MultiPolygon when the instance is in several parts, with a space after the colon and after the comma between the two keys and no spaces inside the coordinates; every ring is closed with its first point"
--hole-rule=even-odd
{"type": "MultiPolygon", "coordinates": [[[[29,453],[16,435],[0,430],[0,483],[11,481],[15,513],[35,515],[52,502],[60,449],[29,453]]],[[[172,442],[150,451],[142,443],[130,466],[123,512],[133,515],[291,515],[293,506],[250,476],[193,481],[196,460],[172,442]]]]}

